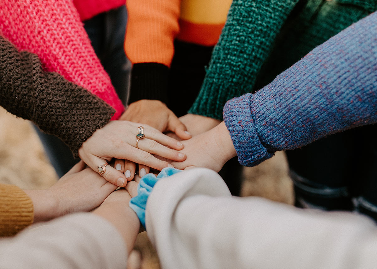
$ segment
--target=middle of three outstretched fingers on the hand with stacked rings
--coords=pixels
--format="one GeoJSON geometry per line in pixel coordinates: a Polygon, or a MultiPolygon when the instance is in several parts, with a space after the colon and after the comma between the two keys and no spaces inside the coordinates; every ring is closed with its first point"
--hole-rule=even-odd
{"type": "Polygon", "coordinates": [[[184,161],[186,155],[182,152],[178,152],[174,149],[169,149],[166,146],[162,146],[155,140],[148,138],[139,139],[138,147],[146,152],[159,155],[173,161],[184,161]]]}

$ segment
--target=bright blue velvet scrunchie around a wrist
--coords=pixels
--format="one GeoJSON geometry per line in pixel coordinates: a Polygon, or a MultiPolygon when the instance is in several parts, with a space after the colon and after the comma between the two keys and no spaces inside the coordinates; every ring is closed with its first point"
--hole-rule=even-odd
{"type": "Polygon", "coordinates": [[[157,177],[153,174],[147,174],[140,179],[138,185],[138,195],[131,198],[129,205],[130,208],[135,211],[136,215],[138,215],[141,225],[143,225],[144,228],[145,208],[147,206],[147,200],[156,182],[161,178],[166,178],[178,172],[181,172],[181,170],[172,167],[166,167],[161,170],[157,177]]]}

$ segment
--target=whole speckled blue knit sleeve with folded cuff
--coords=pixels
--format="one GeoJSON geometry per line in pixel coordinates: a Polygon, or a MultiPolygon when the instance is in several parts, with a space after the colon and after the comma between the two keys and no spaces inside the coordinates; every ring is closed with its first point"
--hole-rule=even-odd
{"type": "Polygon", "coordinates": [[[239,162],[377,122],[377,12],[349,26],[223,111],[239,162]]]}

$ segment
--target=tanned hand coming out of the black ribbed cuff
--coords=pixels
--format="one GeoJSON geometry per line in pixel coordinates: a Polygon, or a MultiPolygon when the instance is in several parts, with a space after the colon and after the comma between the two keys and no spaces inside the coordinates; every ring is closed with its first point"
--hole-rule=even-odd
{"type": "Polygon", "coordinates": [[[182,140],[191,138],[186,127],[167,106],[159,100],[139,100],[129,105],[119,120],[145,123],[160,132],[173,132],[182,140]]]}

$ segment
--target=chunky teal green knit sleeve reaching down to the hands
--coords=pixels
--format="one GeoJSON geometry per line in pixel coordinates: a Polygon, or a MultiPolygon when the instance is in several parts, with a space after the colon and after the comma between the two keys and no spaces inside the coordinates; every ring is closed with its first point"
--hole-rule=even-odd
{"type": "Polygon", "coordinates": [[[233,0],[202,88],[189,113],[222,119],[227,100],[249,93],[298,0],[233,0]]]}

